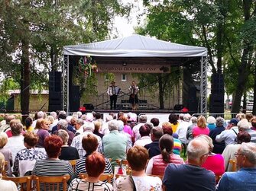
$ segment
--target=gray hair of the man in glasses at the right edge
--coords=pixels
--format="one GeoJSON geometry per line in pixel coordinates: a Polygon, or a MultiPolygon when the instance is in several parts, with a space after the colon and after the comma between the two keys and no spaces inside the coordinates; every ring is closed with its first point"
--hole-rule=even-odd
{"type": "Polygon", "coordinates": [[[240,152],[241,154],[245,154],[248,161],[256,166],[256,143],[243,142],[241,144],[240,152]]]}

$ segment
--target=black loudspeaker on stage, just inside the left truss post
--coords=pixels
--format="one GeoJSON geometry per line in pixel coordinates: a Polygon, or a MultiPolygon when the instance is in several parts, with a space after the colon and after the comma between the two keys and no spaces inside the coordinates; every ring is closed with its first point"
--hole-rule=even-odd
{"type": "Polygon", "coordinates": [[[76,112],[80,107],[80,96],[79,96],[79,86],[72,85],[70,87],[70,111],[76,112]]]}

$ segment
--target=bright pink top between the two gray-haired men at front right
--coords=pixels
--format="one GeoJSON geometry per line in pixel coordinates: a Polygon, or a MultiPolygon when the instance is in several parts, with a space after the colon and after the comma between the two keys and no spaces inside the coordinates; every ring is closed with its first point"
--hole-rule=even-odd
{"type": "Polygon", "coordinates": [[[221,176],[225,173],[224,158],[222,157],[222,154],[210,155],[202,167],[207,170],[212,170],[212,172],[215,173],[215,176],[221,176]]]}

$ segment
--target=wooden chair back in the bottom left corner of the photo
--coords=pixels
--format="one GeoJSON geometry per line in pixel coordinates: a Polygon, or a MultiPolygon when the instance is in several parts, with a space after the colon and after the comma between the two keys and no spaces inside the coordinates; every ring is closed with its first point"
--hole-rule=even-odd
{"type": "Polygon", "coordinates": [[[31,191],[31,180],[32,176],[28,177],[2,177],[2,180],[11,180],[17,186],[21,185],[21,191],[31,191]]]}

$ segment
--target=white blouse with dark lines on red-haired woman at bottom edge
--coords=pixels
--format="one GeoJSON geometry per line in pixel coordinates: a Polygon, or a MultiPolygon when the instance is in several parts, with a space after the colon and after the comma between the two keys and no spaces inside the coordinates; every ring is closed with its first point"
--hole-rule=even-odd
{"type": "Polygon", "coordinates": [[[113,186],[110,183],[104,183],[99,181],[97,183],[89,183],[86,180],[74,179],[70,183],[68,191],[84,191],[84,190],[93,190],[93,191],[112,191],[113,186]]]}

